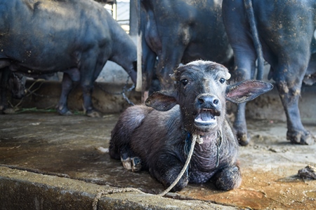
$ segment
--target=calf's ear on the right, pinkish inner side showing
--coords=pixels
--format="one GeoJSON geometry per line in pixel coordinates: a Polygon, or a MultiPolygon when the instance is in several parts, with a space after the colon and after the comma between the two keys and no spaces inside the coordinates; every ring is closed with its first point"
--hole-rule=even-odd
{"type": "Polygon", "coordinates": [[[271,83],[258,80],[244,80],[234,85],[228,85],[226,89],[226,99],[236,104],[249,102],[259,95],[272,90],[271,83]]]}

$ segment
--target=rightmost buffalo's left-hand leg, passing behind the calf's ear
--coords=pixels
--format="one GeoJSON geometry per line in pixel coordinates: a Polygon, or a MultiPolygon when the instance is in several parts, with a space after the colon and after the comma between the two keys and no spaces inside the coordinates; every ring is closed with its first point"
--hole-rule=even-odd
{"type": "MultiPolygon", "coordinates": [[[[232,79],[237,81],[254,78],[256,70],[256,50],[249,31],[249,23],[243,6],[235,9],[240,1],[225,0],[223,2],[223,20],[230,45],[234,50],[235,70],[232,79]]],[[[237,105],[237,113],[233,124],[240,145],[249,144],[246,127],[246,104],[237,105]]]]}

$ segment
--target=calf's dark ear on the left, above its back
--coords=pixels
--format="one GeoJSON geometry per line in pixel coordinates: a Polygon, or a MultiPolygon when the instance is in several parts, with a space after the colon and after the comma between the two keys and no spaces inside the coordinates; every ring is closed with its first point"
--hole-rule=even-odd
{"type": "Polygon", "coordinates": [[[145,104],[158,111],[168,111],[176,106],[177,102],[174,92],[162,90],[152,93],[145,104]]]}

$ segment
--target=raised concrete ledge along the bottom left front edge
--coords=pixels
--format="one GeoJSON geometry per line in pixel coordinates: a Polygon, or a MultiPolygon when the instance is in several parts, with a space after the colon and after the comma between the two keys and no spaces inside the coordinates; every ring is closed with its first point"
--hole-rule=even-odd
{"type": "MultiPolygon", "coordinates": [[[[93,209],[93,200],[102,190],[74,179],[35,174],[0,167],[0,209],[93,209]]],[[[235,209],[196,200],[174,200],[145,193],[129,192],[103,195],[98,209],[235,209]]]]}

